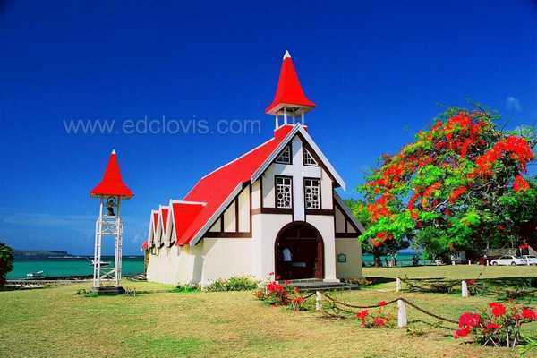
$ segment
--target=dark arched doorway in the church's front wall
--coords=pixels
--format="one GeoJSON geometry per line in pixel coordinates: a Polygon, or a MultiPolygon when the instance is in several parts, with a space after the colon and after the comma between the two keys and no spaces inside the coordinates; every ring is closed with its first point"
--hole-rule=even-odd
{"type": "Polygon", "coordinates": [[[284,226],[277,234],[275,251],[276,277],[302,279],[324,277],[324,248],[319,231],[304,221],[284,226]]]}

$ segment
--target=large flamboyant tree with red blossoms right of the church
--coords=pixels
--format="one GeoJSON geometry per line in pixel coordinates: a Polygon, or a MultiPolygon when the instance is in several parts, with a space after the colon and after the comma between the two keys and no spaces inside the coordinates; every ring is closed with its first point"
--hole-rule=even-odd
{"type": "Polygon", "coordinates": [[[535,240],[537,180],[526,179],[533,131],[503,132],[499,115],[451,108],[358,187],[362,241],[413,240],[430,257],[535,240]]]}

